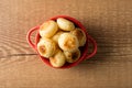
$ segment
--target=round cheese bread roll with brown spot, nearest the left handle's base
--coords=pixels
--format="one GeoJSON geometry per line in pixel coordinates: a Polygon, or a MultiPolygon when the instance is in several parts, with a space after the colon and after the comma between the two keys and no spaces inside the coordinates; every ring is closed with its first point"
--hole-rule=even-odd
{"type": "Polygon", "coordinates": [[[44,57],[51,57],[55,54],[57,45],[54,41],[43,37],[37,43],[37,51],[44,57]]]}

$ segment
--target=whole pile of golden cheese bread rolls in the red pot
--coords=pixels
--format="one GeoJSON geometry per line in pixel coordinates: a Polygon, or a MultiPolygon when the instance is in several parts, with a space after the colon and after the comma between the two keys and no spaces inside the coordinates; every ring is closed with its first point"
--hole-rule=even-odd
{"type": "Polygon", "coordinates": [[[50,59],[53,67],[62,67],[65,63],[74,63],[80,57],[80,46],[86,43],[81,29],[64,18],[48,20],[40,26],[37,51],[50,59]]]}

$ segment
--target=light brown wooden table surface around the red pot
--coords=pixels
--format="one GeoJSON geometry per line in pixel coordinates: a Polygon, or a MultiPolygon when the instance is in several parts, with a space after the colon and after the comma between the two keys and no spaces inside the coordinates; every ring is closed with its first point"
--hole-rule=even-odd
{"type": "Polygon", "coordinates": [[[0,0],[0,88],[132,88],[132,0],[0,0]],[[25,38],[59,14],[98,43],[96,56],[70,69],[46,66],[25,38]]]}

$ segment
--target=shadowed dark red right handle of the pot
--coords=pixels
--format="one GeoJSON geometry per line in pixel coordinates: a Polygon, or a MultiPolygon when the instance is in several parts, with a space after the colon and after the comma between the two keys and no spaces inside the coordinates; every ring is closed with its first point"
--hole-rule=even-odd
{"type": "Polygon", "coordinates": [[[97,43],[90,35],[88,35],[88,42],[92,43],[94,50],[89,55],[86,56],[86,59],[92,57],[97,53],[97,43]]]}

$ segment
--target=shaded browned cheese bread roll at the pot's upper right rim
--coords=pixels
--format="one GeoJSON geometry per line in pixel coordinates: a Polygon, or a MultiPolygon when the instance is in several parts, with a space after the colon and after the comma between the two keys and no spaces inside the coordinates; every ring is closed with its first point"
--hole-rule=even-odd
{"type": "Polygon", "coordinates": [[[86,44],[86,34],[79,28],[70,31],[70,33],[77,36],[79,46],[84,46],[86,44]]]}

